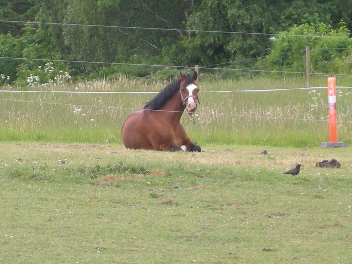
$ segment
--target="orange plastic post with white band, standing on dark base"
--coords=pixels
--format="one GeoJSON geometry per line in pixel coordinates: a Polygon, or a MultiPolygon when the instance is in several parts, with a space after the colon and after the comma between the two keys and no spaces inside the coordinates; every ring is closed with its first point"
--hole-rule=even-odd
{"type": "Polygon", "coordinates": [[[336,78],[328,77],[330,142],[337,143],[336,78]]]}

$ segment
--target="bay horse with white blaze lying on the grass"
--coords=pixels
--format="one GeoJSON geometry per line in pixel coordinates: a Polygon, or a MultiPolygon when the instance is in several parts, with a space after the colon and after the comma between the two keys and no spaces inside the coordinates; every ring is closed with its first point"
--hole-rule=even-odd
{"type": "Polygon", "coordinates": [[[121,140],[127,149],[164,151],[201,151],[187,137],[180,119],[184,109],[189,115],[197,109],[198,74],[184,75],[169,83],[143,109],[129,115],[121,128],[121,140]]]}

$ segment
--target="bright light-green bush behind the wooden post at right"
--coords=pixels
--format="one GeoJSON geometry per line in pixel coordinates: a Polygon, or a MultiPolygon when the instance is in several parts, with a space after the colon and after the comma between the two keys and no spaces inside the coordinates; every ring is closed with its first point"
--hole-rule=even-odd
{"type": "Polygon", "coordinates": [[[347,62],[348,55],[351,54],[352,42],[349,37],[350,32],[343,22],[338,29],[324,23],[294,26],[272,38],[273,48],[265,58],[264,65],[275,70],[304,72],[305,49],[309,46],[311,72],[346,73],[350,67],[346,68],[343,62],[347,62]],[[302,35],[317,37],[300,37],[302,35]]]}

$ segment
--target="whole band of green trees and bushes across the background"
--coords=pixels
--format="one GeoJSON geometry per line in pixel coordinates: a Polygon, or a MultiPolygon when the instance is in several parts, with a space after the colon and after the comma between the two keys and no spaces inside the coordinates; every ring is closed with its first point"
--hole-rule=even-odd
{"type": "MultiPolygon", "coordinates": [[[[341,64],[350,65],[345,63],[351,60],[348,57],[350,50],[334,51],[348,46],[345,40],[337,44],[331,39],[311,41],[297,37],[282,48],[271,49],[281,44],[277,44],[278,41],[273,43],[266,35],[192,30],[348,36],[347,31],[352,28],[352,10],[345,8],[348,5],[352,5],[352,0],[313,0],[309,3],[302,0],[167,0],[163,4],[153,0],[0,1],[2,20],[82,24],[1,23],[0,55],[118,64],[61,63],[56,66],[74,78],[94,79],[118,74],[144,78],[161,69],[124,64],[199,64],[203,67],[240,69],[268,69],[279,65],[284,69],[300,60],[304,52],[285,58],[276,58],[274,54],[309,44],[312,59],[316,58],[319,62],[319,65],[312,64],[313,70],[347,73],[350,67],[342,67],[341,64]],[[346,24],[339,24],[341,20],[346,24]],[[315,54],[313,48],[325,50],[315,54]],[[259,57],[268,55],[270,51],[270,60],[258,62],[259,57]]],[[[36,71],[42,64],[32,60],[0,59],[0,74],[10,76],[11,82],[18,80],[24,84],[30,74],[38,75],[36,71]]],[[[226,75],[224,71],[213,74],[226,75]]],[[[171,75],[165,74],[159,81],[167,80],[171,75]]]]}

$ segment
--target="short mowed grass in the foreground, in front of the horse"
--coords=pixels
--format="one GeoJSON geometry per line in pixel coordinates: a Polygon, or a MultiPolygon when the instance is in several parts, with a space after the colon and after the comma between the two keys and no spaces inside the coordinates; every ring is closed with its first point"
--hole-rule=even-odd
{"type": "Polygon", "coordinates": [[[1,263],[351,262],[350,150],[202,148],[2,143],[1,263]]]}

